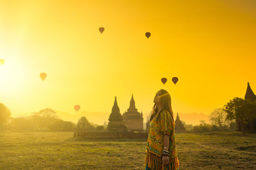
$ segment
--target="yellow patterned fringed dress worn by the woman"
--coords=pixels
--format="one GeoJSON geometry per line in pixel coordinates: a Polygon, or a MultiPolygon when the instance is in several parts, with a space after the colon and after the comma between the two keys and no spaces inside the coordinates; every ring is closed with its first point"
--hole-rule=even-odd
{"type": "Polygon", "coordinates": [[[157,115],[150,122],[146,158],[143,165],[146,167],[146,169],[179,169],[179,159],[177,156],[174,126],[175,122],[168,110],[163,110],[160,113],[157,113],[157,115]],[[164,134],[170,135],[170,159],[169,164],[165,166],[162,162],[164,134]]]}

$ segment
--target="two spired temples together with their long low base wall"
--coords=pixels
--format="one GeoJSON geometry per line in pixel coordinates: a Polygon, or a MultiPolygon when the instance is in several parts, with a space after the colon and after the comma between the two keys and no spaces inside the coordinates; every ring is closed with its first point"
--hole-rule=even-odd
{"type": "Polygon", "coordinates": [[[106,131],[89,132],[89,131],[75,131],[74,137],[84,139],[147,139],[148,132],[143,131],[143,117],[142,111],[139,113],[135,108],[133,99],[130,101],[130,106],[123,115],[117,104],[116,96],[112,107],[112,111],[108,118],[108,127],[106,131]]]}

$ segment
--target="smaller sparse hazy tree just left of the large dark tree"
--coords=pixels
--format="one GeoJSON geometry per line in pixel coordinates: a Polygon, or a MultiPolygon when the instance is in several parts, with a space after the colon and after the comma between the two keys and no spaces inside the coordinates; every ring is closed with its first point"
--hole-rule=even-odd
{"type": "Polygon", "coordinates": [[[212,125],[216,125],[218,127],[227,127],[230,124],[230,120],[227,119],[227,112],[221,108],[216,108],[212,111],[209,116],[209,120],[212,125]]]}

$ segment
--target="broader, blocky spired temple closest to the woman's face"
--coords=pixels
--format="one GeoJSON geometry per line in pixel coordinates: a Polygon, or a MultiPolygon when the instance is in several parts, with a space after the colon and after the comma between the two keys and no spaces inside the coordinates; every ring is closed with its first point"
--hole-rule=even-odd
{"type": "Polygon", "coordinates": [[[143,131],[143,114],[136,109],[133,94],[130,106],[123,114],[123,122],[129,131],[143,131]]]}

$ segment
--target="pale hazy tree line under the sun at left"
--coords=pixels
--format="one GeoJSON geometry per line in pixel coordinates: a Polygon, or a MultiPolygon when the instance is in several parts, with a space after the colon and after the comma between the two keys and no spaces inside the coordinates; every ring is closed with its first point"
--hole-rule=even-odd
{"type": "Polygon", "coordinates": [[[56,111],[45,108],[27,117],[13,118],[10,109],[0,103],[0,130],[6,131],[104,131],[103,125],[92,125],[85,117],[77,124],[61,120],[56,111]]]}

